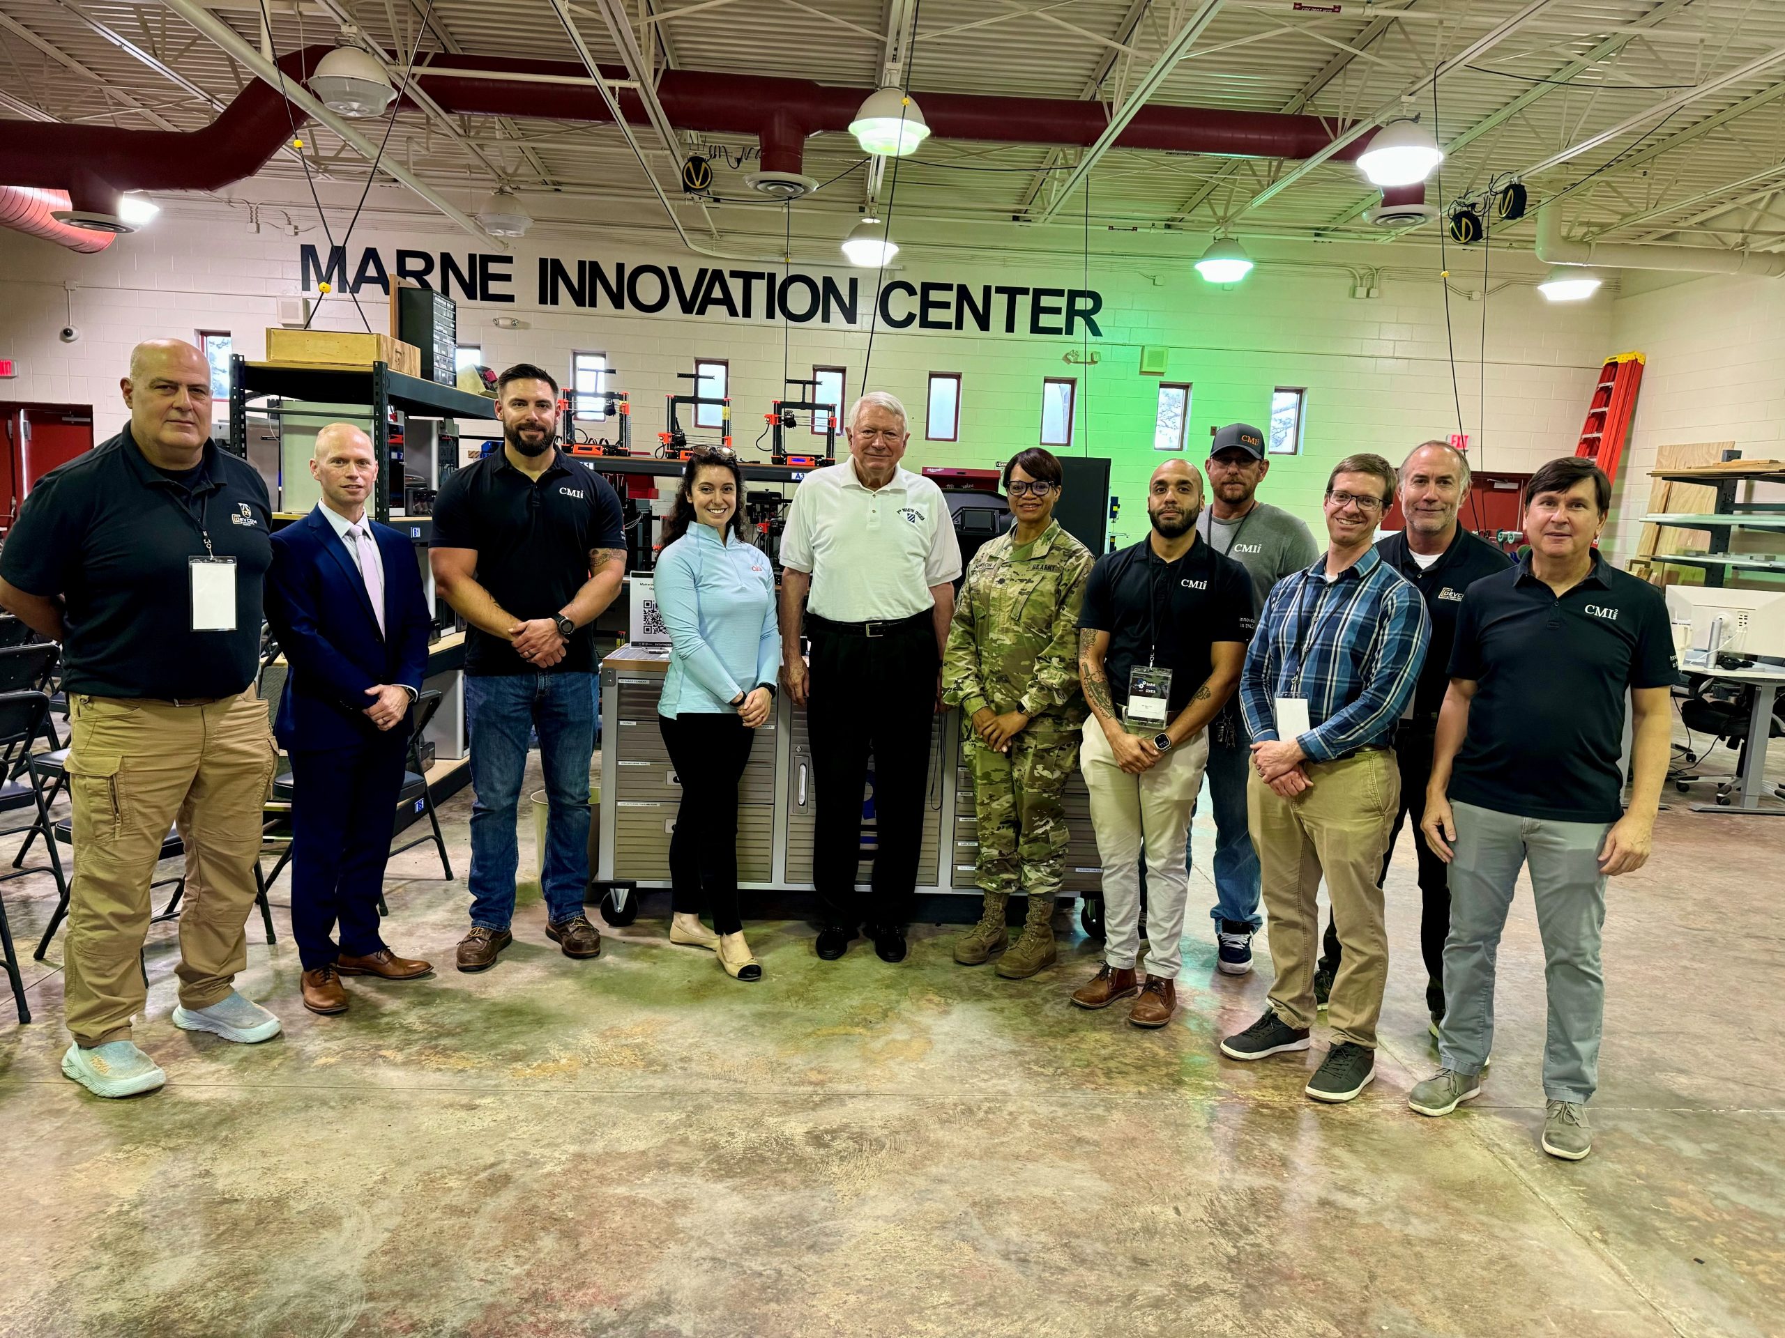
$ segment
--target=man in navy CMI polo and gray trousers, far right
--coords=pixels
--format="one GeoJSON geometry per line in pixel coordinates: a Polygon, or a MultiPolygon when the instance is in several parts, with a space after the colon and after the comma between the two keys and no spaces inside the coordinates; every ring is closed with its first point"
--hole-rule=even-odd
{"type": "Polygon", "coordinates": [[[1408,1104],[1448,1115],[1480,1095],[1494,1044],[1494,951],[1521,865],[1544,940],[1549,1038],[1542,1147],[1592,1151],[1605,880],[1649,858],[1667,772],[1678,669],[1662,592],[1594,551],[1612,483],[1592,460],[1551,460],[1526,487],[1517,567],[1469,587],[1439,715],[1421,830],[1449,863],[1437,1076],[1408,1104]],[[1624,694],[1635,714],[1628,810],[1619,801],[1624,694]]]}

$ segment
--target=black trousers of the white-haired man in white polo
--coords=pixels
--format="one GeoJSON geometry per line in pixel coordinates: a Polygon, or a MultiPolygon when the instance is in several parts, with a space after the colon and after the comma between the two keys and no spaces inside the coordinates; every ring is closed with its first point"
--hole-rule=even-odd
{"type": "Polygon", "coordinates": [[[812,881],[826,924],[910,922],[930,776],[941,655],[930,615],[882,637],[810,626],[807,730],[818,780],[812,881]],[[862,797],[873,769],[878,849],[866,904],[855,892],[862,797]]]}

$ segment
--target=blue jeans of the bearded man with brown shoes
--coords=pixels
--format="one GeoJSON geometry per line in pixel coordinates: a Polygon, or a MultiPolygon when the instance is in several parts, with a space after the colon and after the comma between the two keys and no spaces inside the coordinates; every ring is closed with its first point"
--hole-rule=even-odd
{"type": "Polygon", "coordinates": [[[594,696],[589,673],[466,674],[471,730],[471,924],[507,929],[521,853],[514,817],[527,774],[527,737],[539,733],[544,764],[546,860],[541,885],[553,924],[582,915],[589,888],[589,758],[594,696]]]}

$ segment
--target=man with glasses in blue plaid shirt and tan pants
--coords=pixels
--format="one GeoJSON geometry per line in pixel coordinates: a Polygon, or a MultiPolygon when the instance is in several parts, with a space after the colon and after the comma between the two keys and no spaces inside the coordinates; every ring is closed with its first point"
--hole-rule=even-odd
{"type": "Polygon", "coordinates": [[[1276,983],[1271,1006],[1221,1042],[1233,1060],[1308,1049],[1326,878],[1344,956],[1328,1020],[1333,1045],[1307,1085],[1349,1101],[1376,1076],[1376,1017],[1389,978],[1382,856],[1399,814],[1394,726],[1432,640],[1424,599],[1374,549],[1394,466],[1349,455],[1326,480],[1326,555],[1266,599],[1241,674],[1251,735],[1246,787],[1276,983]]]}

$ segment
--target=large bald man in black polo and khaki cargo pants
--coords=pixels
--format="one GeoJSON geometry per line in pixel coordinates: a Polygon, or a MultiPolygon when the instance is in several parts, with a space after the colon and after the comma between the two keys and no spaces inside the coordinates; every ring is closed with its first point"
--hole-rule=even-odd
{"type": "Polygon", "coordinates": [[[253,692],[273,560],[266,485],[211,444],[211,366],[196,348],[137,344],[120,385],[130,423],[45,475],[0,551],[0,605],[62,642],[75,824],[62,1072],[102,1097],[168,1081],[130,1040],[130,1015],[146,1003],[148,885],[175,824],[186,908],[173,1024],[236,1042],[278,1035],[234,988],[278,764],[253,692]]]}

